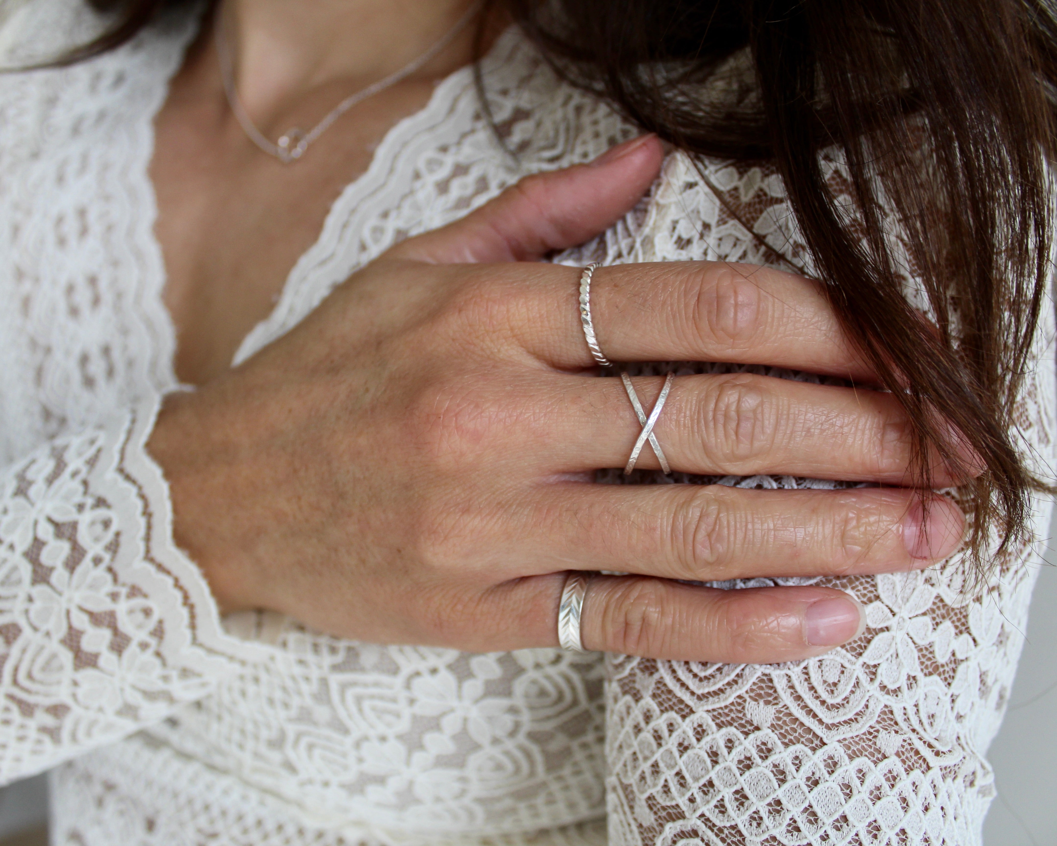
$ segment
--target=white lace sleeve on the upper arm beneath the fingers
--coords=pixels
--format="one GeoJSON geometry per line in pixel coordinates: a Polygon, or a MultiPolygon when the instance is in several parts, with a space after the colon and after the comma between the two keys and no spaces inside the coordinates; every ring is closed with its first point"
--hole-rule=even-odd
{"type": "MultiPolygon", "coordinates": [[[[722,163],[698,171],[678,159],[669,160],[649,205],[606,241],[569,258],[761,264],[792,258],[803,266],[777,177],[722,163]]],[[[1046,324],[1017,425],[1025,454],[1037,471],[1052,476],[1049,316],[1046,324]]],[[[750,369],[675,366],[697,372],[750,369]]],[[[639,481],[666,481],[648,475],[639,481]]],[[[771,476],[678,480],[834,486],[771,476]]],[[[1050,502],[1036,507],[1036,537],[1043,537],[1050,502]]],[[[1015,550],[986,589],[972,595],[963,589],[960,556],[906,574],[722,585],[809,583],[855,594],[867,608],[864,635],[810,661],[733,666],[609,656],[610,843],[978,843],[995,792],[984,754],[1008,698],[1037,563],[1038,550],[1015,550]]]]}

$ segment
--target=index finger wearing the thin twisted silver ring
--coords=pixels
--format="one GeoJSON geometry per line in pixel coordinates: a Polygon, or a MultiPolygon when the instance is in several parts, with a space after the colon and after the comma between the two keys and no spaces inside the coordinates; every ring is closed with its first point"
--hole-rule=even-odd
{"type": "MultiPolygon", "coordinates": [[[[522,327],[520,339],[556,367],[594,364],[577,310],[578,279],[579,271],[569,269],[526,293],[538,319],[522,327]]],[[[875,381],[819,283],[771,268],[720,261],[599,268],[591,311],[598,344],[615,362],[729,362],[875,381]]]]}

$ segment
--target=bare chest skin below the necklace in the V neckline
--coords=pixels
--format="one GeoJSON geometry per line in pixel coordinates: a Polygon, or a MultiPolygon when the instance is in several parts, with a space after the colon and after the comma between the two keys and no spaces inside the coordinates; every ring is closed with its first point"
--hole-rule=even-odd
{"type": "MultiPolygon", "coordinates": [[[[357,87],[320,86],[260,129],[271,139],[292,126],[308,130],[357,87]]],[[[181,382],[201,385],[230,366],[318,238],[331,204],[370,166],[385,133],[422,109],[432,90],[429,78],[393,86],[344,114],[302,159],[283,164],[246,137],[224,97],[209,33],[197,39],[155,119],[150,168],[181,382]]]]}

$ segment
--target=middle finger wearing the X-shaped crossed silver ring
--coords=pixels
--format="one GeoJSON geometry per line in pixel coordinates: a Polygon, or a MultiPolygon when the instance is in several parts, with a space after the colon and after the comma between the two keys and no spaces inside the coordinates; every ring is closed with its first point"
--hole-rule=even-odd
{"type": "MultiPolygon", "coordinates": [[[[656,376],[631,380],[644,410],[656,376]]],[[[642,426],[617,378],[559,376],[548,418],[550,471],[623,467],[642,426]]],[[[906,484],[912,457],[906,412],[889,393],[750,373],[679,376],[653,429],[672,470],[704,475],[783,474],[906,484]]],[[[953,480],[939,460],[931,481],[953,480]]],[[[657,468],[646,445],[637,466],[657,468]]]]}

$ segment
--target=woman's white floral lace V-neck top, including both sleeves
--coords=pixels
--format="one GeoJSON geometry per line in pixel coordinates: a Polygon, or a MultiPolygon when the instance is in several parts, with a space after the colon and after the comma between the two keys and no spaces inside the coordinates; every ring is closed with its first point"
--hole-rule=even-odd
{"type": "MultiPolygon", "coordinates": [[[[6,62],[54,54],[94,25],[78,0],[34,0],[0,48],[6,62]]],[[[601,844],[607,823],[613,844],[978,843],[1027,548],[978,596],[957,557],[829,580],[867,606],[866,632],[768,666],[466,655],[219,619],[144,452],[177,387],[152,121],[196,26],[170,19],[91,61],[0,78],[0,776],[55,768],[53,843],[601,844]]],[[[239,358],[394,241],[633,134],[516,32],[484,76],[515,155],[470,71],[450,76],[335,202],[239,358]]],[[[648,202],[563,258],[810,270],[798,244],[773,174],[719,161],[700,174],[673,155],[648,202]]],[[[1017,421],[1039,462],[1054,426],[1043,334],[1017,421]]],[[[1040,502],[1039,527],[1047,514],[1040,502]]]]}

